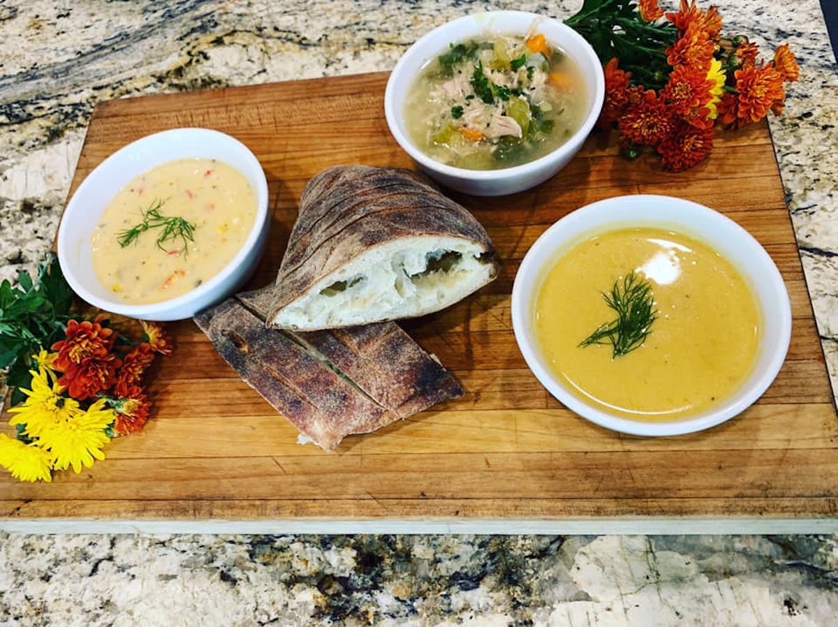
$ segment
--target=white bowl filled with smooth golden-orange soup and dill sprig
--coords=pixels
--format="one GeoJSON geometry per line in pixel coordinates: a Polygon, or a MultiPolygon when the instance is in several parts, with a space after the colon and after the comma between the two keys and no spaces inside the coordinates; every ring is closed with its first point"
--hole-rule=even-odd
{"type": "Polygon", "coordinates": [[[622,433],[711,428],[753,404],[789,349],[789,294],[768,252],[704,205],[601,200],[551,225],[512,290],[541,384],[622,433]]]}

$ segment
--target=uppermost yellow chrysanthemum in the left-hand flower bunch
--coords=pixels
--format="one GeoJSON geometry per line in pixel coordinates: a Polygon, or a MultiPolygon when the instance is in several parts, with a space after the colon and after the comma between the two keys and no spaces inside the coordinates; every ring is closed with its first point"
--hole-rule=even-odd
{"type": "Polygon", "coordinates": [[[63,396],[64,388],[56,381],[54,371],[44,365],[38,365],[38,372],[32,373],[31,389],[20,391],[27,396],[23,404],[12,407],[8,411],[17,416],[9,421],[13,425],[26,425],[26,433],[30,438],[39,438],[44,429],[54,426],[57,422],[65,421],[79,409],[79,402],[75,398],[63,396]]]}

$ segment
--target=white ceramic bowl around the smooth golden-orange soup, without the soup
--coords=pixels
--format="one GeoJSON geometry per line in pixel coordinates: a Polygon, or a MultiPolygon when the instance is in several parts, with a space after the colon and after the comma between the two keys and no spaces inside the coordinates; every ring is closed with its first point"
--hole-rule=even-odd
{"type": "Polygon", "coordinates": [[[632,195],[600,200],[558,220],[527,251],[512,288],[515,339],[530,370],[566,407],[602,427],[622,433],[665,436],[713,427],[744,411],[771,385],[783,365],[791,338],[791,307],[783,278],[768,253],[736,222],[704,205],[670,196],[632,195]],[[534,334],[535,295],[546,271],[572,246],[603,231],[654,226],[703,241],[737,267],[761,311],[761,339],[751,375],[732,396],[693,417],[642,422],[619,417],[574,396],[547,367],[534,334]]]}

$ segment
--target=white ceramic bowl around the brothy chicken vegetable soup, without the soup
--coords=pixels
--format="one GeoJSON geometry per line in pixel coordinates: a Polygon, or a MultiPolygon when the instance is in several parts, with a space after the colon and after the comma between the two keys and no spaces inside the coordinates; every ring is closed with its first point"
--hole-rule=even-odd
{"type": "Polygon", "coordinates": [[[443,24],[416,41],[396,63],[384,96],[387,125],[396,142],[424,172],[452,189],[478,196],[514,194],[541,184],[564,168],[582,148],[582,143],[599,117],[605,96],[603,66],[590,44],[575,30],[557,19],[524,11],[477,13],[443,24]],[[530,163],[496,170],[454,168],[428,157],[411,142],[406,132],[404,102],[416,75],[428,61],[442,54],[449,44],[478,37],[486,32],[523,35],[537,24],[547,41],[570,54],[582,66],[586,77],[588,109],[579,130],[552,153],[530,163]]]}

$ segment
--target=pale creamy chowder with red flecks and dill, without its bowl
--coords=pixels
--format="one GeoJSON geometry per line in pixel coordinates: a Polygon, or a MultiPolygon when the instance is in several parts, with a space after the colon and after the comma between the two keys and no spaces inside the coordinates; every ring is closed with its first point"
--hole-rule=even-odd
{"type": "Polygon", "coordinates": [[[164,163],[127,184],[93,231],[93,267],[124,303],[158,303],[214,277],[247,240],[256,195],[215,159],[164,163]]]}

